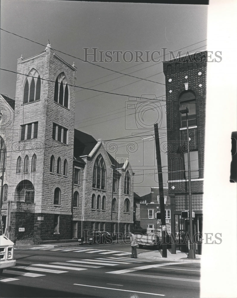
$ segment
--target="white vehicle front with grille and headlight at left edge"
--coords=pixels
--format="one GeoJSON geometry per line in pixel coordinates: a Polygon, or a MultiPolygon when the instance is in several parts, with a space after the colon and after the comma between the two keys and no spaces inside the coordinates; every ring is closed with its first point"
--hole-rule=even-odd
{"type": "Polygon", "coordinates": [[[14,243],[5,235],[0,235],[0,272],[4,268],[15,266],[14,243]]]}

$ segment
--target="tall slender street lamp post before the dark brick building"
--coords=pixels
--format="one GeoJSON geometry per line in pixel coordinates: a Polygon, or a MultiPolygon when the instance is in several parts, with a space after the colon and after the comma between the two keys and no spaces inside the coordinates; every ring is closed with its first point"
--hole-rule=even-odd
{"type": "Polygon", "coordinates": [[[192,193],[191,193],[191,170],[190,170],[190,152],[189,152],[189,134],[188,134],[188,108],[181,107],[181,114],[186,114],[187,123],[187,140],[188,140],[188,198],[189,198],[189,227],[190,227],[190,249],[188,250],[188,259],[196,259],[193,240],[193,209],[192,209],[192,193]]]}

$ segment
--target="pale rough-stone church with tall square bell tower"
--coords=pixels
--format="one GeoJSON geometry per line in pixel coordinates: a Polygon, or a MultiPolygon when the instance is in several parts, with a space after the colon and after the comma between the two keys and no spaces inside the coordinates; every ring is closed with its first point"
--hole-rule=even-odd
{"type": "Polygon", "coordinates": [[[129,231],[134,174],[128,160],[119,164],[102,142],[74,129],[76,66],[48,42],[42,53],[18,59],[17,72],[15,101],[1,96],[0,111],[2,216],[10,239],[129,231]]]}

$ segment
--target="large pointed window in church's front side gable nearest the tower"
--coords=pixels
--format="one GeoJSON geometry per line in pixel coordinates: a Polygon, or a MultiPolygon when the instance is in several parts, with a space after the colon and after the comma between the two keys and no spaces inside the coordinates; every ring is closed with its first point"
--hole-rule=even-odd
{"type": "Polygon", "coordinates": [[[106,188],[106,167],[105,161],[101,154],[96,158],[93,168],[93,182],[92,187],[105,189],[106,188]]]}

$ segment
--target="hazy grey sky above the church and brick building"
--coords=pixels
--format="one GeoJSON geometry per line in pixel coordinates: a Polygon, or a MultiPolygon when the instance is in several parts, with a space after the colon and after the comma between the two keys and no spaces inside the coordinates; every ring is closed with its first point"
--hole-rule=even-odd
{"type": "MultiPolygon", "coordinates": [[[[162,61],[170,59],[168,51],[176,55],[182,49],[181,55],[185,55],[187,51],[206,49],[207,5],[3,0],[1,29],[44,45],[1,30],[1,68],[16,71],[21,55],[24,59],[37,55],[49,39],[60,57],[77,66],[77,86],[124,94],[76,88],[75,128],[95,139],[112,139],[104,145],[120,162],[129,158],[135,173],[135,192],[139,195],[158,185],[152,136],[157,122],[163,137],[160,139],[163,182],[167,186],[166,117],[164,103],[160,101],[165,100],[162,61]],[[103,51],[102,62],[94,64],[138,78],[83,62],[85,53],[93,51],[98,61],[99,51],[103,51]],[[118,54],[118,59],[113,54],[113,59],[107,58],[112,61],[105,62],[106,51],[122,54],[118,54]],[[126,51],[129,52],[123,54],[126,51]],[[136,51],[142,52],[142,60],[137,58],[137,62],[136,51]],[[164,53],[168,55],[159,61],[159,55],[164,53]],[[157,62],[141,62],[151,58],[157,62]],[[124,136],[130,138],[117,139],[124,136]]],[[[93,57],[88,56],[87,60],[92,62],[93,57]]],[[[16,74],[1,71],[1,93],[14,98],[15,85],[16,74]]]]}

